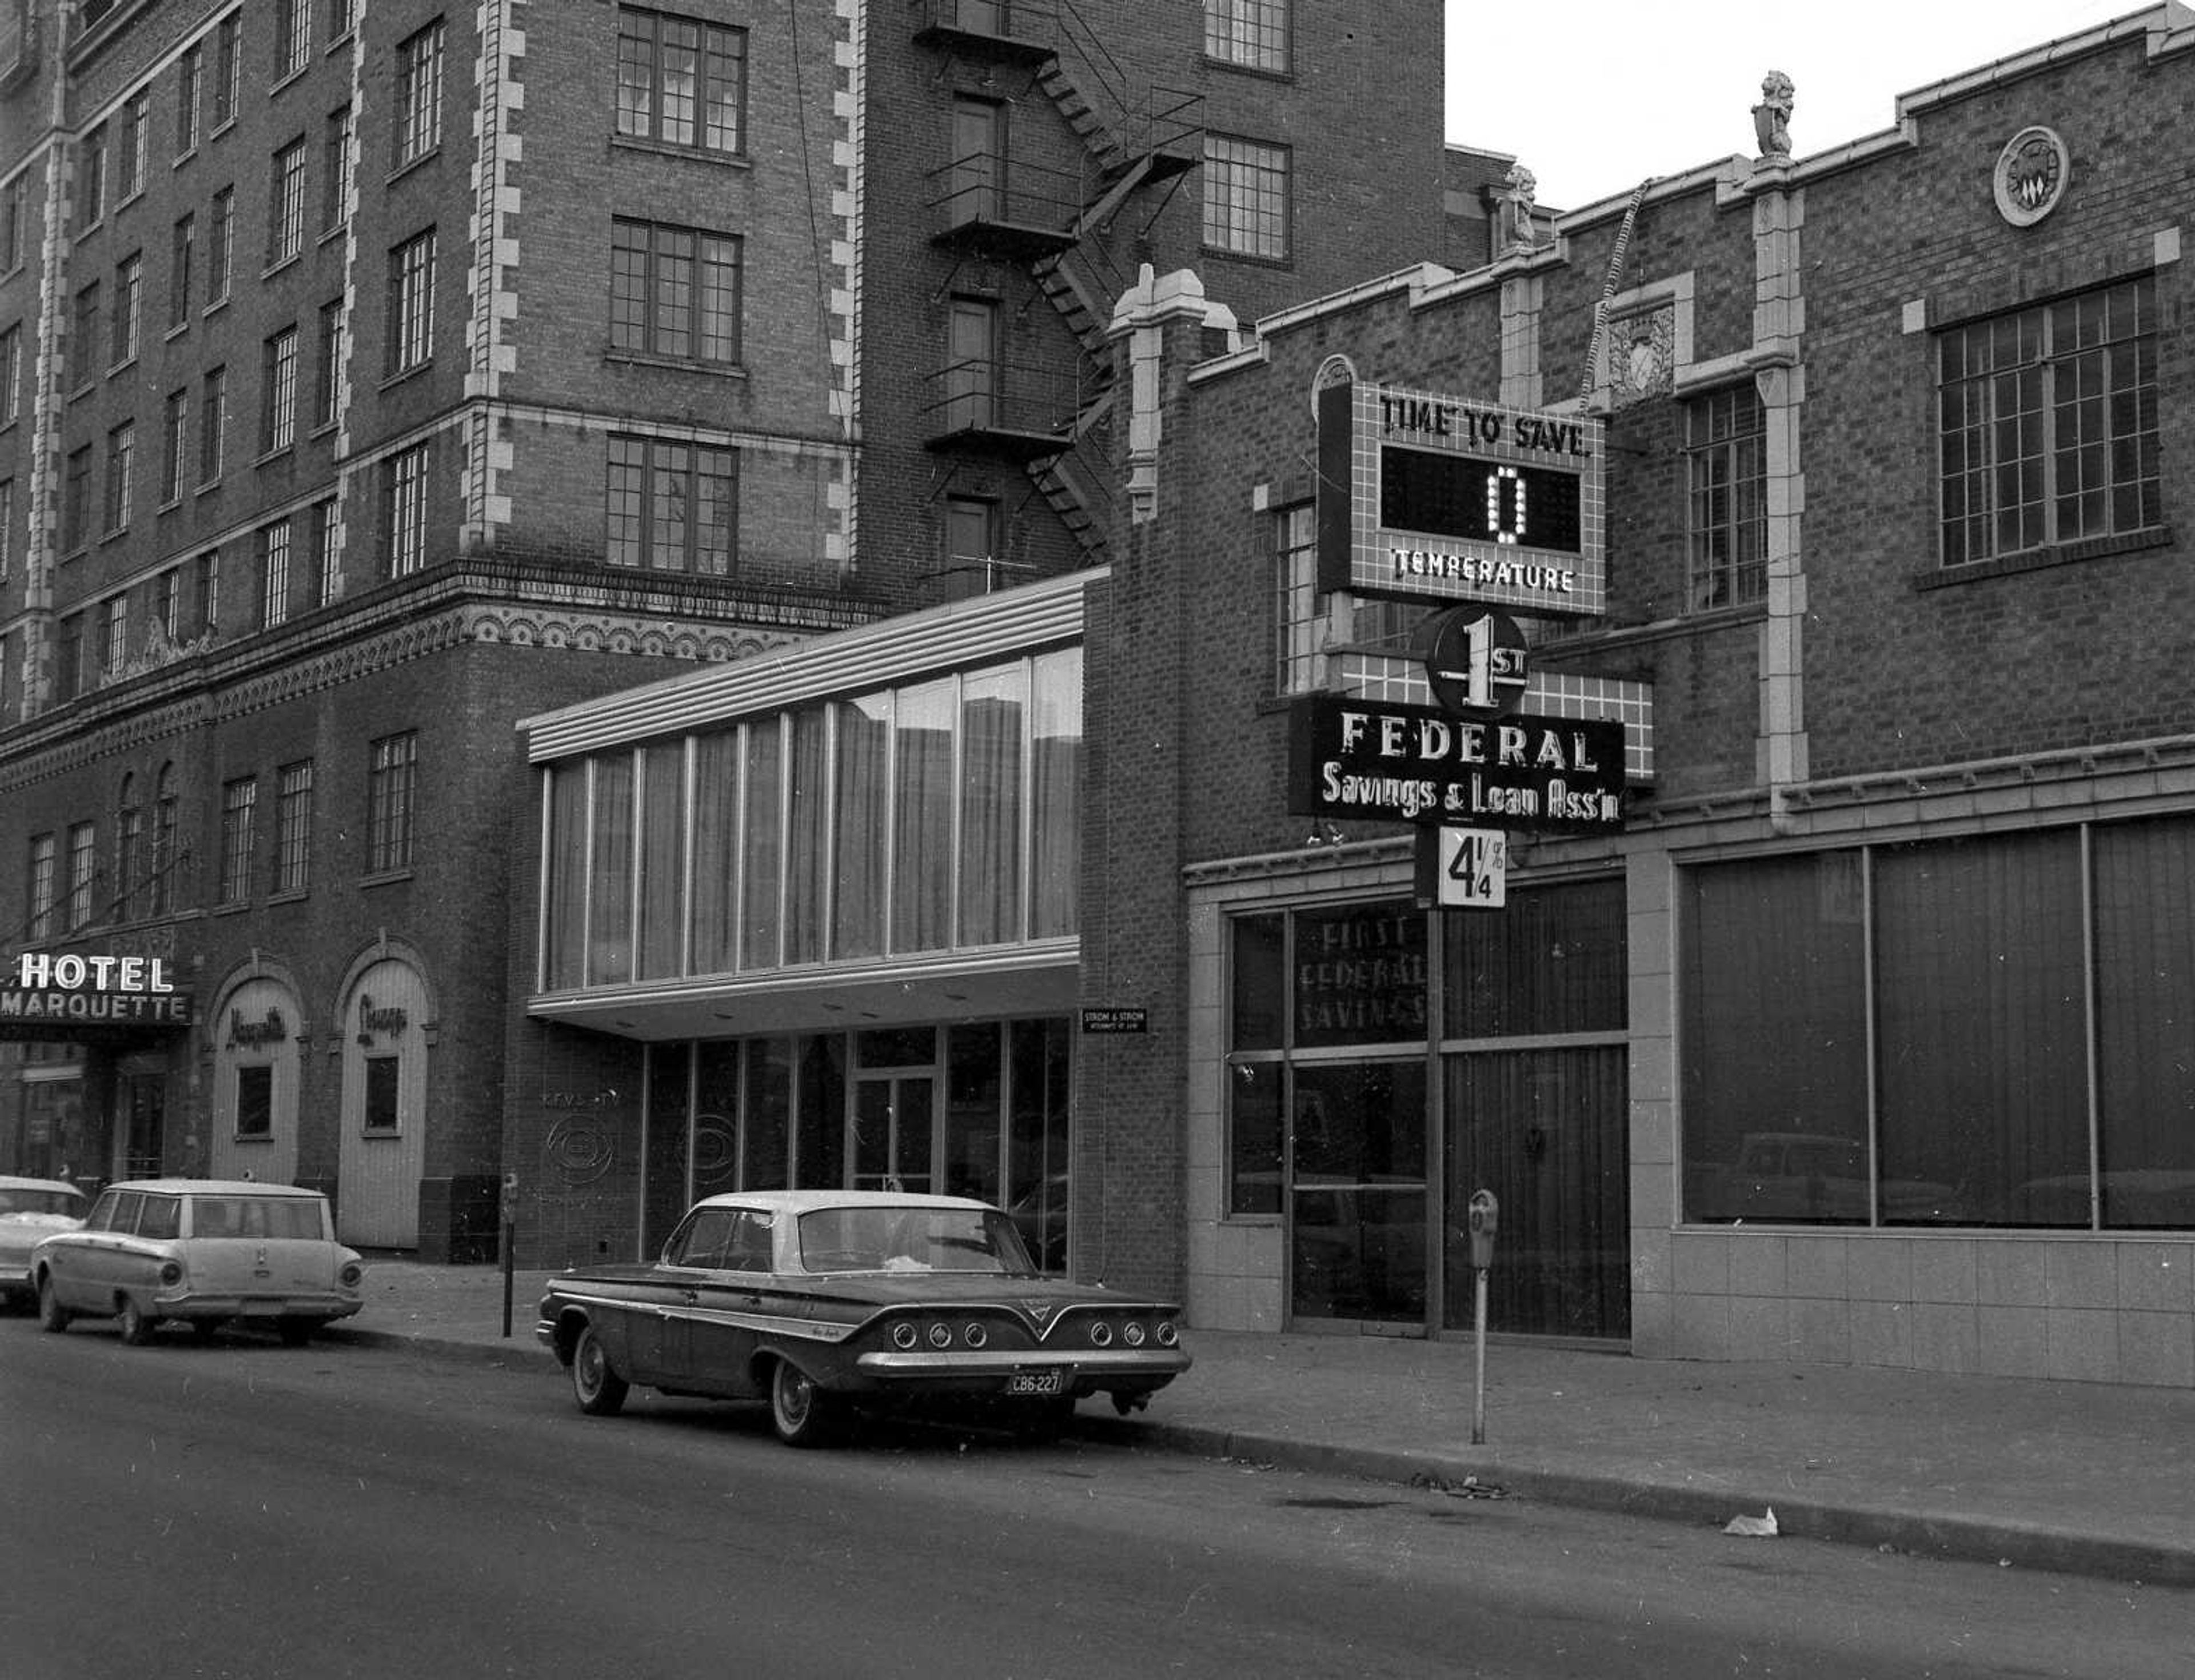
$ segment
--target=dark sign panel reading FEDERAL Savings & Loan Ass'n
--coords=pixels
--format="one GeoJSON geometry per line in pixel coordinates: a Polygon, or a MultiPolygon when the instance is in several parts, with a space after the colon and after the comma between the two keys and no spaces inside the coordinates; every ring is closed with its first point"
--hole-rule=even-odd
{"type": "Polygon", "coordinates": [[[1602,718],[1455,718],[1317,694],[1288,707],[1288,810],[1613,832],[1624,821],[1624,727],[1602,718]]]}

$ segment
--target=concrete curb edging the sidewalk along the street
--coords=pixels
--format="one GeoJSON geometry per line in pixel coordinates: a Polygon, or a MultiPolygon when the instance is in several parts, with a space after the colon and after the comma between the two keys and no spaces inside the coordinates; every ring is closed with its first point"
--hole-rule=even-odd
{"type": "MultiPolygon", "coordinates": [[[[514,1318],[509,1340],[496,1342],[345,1326],[334,1329],[329,1340],[375,1348],[413,1348],[435,1357],[481,1359],[487,1364],[507,1364],[514,1353],[551,1362],[549,1351],[533,1340],[531,1315],[522,1326],[514,1318]]],[[[1914,1553],[1918,1557],[2004,1564],[2011,1568],[2138,1581],[2145,1586],[2195,1588],[2195,1542],[2186,1546],[2149,1544],[2120,1535],[1973,1517],[1958,1511],[1837,1504],[1793,1496],[1791,1489],[1760,1491],[1642,1476],[1598,1476],[1506,1463],[1499,1454],[1451,1458],[1427,1452],[1350,1447],[1249,1430],[1218,1430],[1201,1423],[1152,1423],[1111,1414],[1078,1416],[1073,1434],[1080,1441],[1108,1447],[1231,1458],[1249,1465],[1273,1465],[1275,1469],[1392,1482],[1396,1487],[1460,1491],[1477,1482],[1486,1489],[1501,1489],[1512,1498],[1712,1528],[1721,1528],[1734,1515],[1774,1507],[1776,1526],[1791,1539],[1824,1539],[1844,1546],[1914,1553]]]]}

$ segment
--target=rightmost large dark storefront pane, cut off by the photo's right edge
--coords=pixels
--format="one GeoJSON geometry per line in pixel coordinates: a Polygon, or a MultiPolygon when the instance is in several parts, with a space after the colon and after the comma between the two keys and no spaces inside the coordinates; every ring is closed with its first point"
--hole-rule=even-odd
{"type": "Polygon", "coordinates": [[[2094,830],[2103,1223],[2195,1225],[2195,821],[2094,830]]]}

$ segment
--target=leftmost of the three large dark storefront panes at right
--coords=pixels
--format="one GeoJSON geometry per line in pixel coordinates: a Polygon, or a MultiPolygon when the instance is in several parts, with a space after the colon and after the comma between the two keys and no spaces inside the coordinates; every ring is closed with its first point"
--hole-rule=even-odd
{"type": "Polygon", "coordinates": [[[1866,1221],[1859,852],[1684,874],[1684,1217],[1866,1221]]]}

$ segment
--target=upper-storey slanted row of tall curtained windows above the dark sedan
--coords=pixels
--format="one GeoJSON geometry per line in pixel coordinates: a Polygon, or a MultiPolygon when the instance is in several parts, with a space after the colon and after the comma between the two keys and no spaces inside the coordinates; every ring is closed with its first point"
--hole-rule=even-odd
{"type": "Polygon", "coordinates": [[[549,766],[544,990],[1073,938],[1082,652],[549,766]]]}

